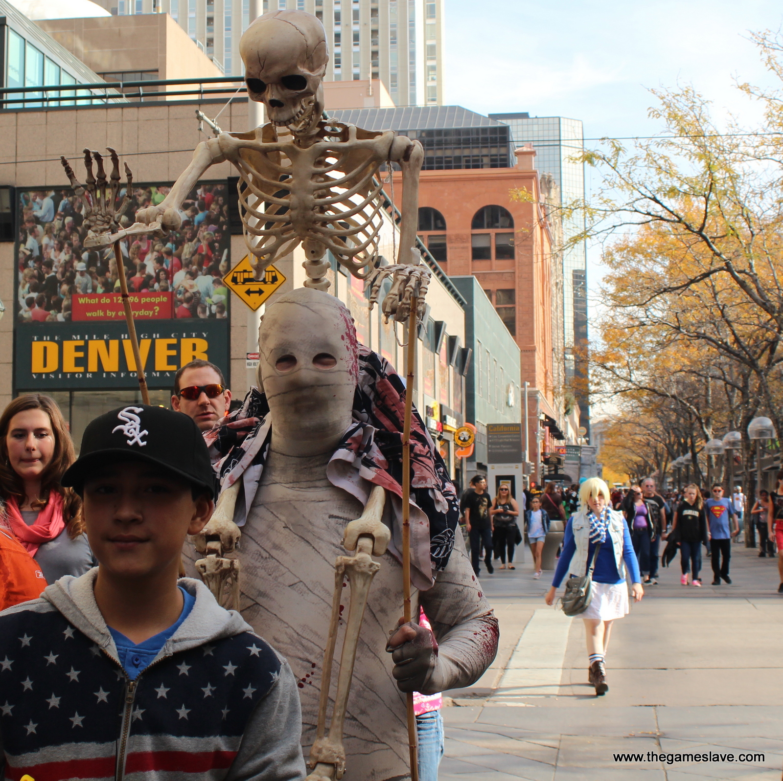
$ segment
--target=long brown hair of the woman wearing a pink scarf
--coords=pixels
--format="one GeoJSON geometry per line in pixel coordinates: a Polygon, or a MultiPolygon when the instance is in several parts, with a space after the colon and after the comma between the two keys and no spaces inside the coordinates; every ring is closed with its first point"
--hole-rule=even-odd
{"type": "Polygon", "coordinates": [[[60,412],[56,401],[43,394],[24,394],[15,398],[0,415],[0,495],[2,498],[15,498],[16,502],[23,504],[26,495],[24,483],[13,470],[8,457],[8,430],[13,416],[28,409],[40,409],[49,416],[54,434],[54,452],[52,460],[41,473],[41,496],[32,503],[32,509],[41,509],[49,500],[49,493],[56,491],[63,497],[63,520],[67,524],[68,536],[77,538],[85,531],[85,522],[81,516],[81,499],[70,488],[60,485],[60,478],[65,470],[76,460],[74,442],[68,433],[68,426],[60,412]]]}

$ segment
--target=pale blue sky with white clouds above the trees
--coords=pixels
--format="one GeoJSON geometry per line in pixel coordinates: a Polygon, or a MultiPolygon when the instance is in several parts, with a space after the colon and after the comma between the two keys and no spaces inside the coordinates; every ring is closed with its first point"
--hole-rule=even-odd
{"type": "MultiPolygon", "coordinates": [[[[749,31],[783,23],[771,0],[446,0],[446,103],[580,119],[586,139],[651,135],[649,88],[692,84],[752,121],[734,78],[771,86],[749,31]]],[[[590,146],[589,140],[586,146],[590,146]]],[[[594,176],[594,174],[593,174],[594,176]]],[[[588,182],[590,186],[590,182],[588,182]]],[[[591,293],[600,252],[588,252],[591,293]]]]}

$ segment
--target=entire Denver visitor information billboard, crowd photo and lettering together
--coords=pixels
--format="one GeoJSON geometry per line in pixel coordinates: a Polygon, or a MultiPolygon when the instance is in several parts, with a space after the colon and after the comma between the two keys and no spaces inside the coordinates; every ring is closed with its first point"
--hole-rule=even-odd
{"type": "MultiPolygon", "coordinates": [[[[121,225],[161,203],[168,185],[133,185],[121,225]]],[[[71,189],[16,190],[14,387],[135,385],[114,250],[85,250],[84,204],[71,189]],[[127,343],[127,344],[126,344],[127,343]]],[[[124,198],[124,188],[117,206],[124,198]]],[[[204,358],[228,376],[231,262],[225,182],[207,182],[182,203],[168,236],[121,242],[151,388],[171,386],[182,362],[204,358]]]]}

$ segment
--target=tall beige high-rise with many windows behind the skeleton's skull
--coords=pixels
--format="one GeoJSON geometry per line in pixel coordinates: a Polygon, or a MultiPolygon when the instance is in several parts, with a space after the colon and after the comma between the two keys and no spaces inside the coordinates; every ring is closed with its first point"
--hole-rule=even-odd
{"type": "MultiPolygon", "coordinates": [[[[243,73],[240,36],[249,0],[98,0],[114,14],[169,13],[226,75],[243,73]]],[[[443,103],[445,0],[263,0],[323,22],[327,81],[380,79],[397,106],[443,103]]],[[[150,63],[153,65],[153,63],[150,63]]]]}

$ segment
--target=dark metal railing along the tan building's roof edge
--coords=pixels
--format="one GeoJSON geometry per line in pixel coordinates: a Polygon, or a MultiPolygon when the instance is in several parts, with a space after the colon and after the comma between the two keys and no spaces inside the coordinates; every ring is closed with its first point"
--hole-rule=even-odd
{"type": "Polygon", "coordinates": [[[7,111],[66,106],[85,108],[106,103],[160,101],[172,98],[219,99],[229,97],[241,85],[244,85],[242,76],[215,76],[196,79],[101,81],[98,84],[5,87],[0,89],[0,109],[7,111]]]}

